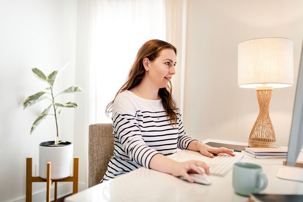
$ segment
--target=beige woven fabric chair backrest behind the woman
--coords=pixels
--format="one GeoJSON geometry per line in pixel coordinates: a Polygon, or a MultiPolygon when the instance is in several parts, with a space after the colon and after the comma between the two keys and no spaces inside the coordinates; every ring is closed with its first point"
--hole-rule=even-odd
{"type": "Polygon", "coordinates": [[[112,124],[92,124],[88,130],[88,187],[99,184],[114,152],[112,124]]]}

